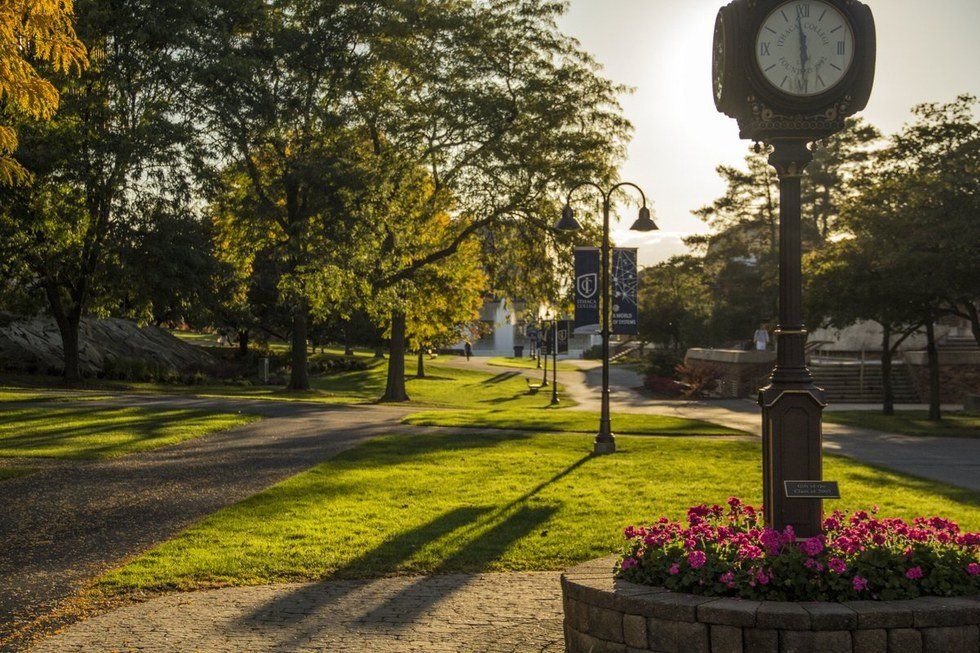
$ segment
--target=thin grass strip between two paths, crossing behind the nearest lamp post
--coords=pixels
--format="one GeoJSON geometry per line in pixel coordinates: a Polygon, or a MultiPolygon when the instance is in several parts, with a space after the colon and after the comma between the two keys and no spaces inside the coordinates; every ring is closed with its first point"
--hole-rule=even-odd
{"type": "MultiPolygon", "coordinates": [[[[599,413],[535,410],[426,411],[405,418],[406,424],[462,428],[516,429],[521,431],[564,431],[591,433],[599,428],[599,413]]],[[[749,435],[711,422],[664,415],[616,413],[616,433],[626,435],[749,435]]]]}

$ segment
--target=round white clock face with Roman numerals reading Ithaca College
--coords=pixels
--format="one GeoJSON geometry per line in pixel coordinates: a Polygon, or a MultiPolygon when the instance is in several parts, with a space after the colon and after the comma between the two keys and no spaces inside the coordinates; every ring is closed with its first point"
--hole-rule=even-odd
{"type": "Polygon", "coordinates": [[[759,29],[759,70],[784,93],[809,97],[836,86],[854,62],[854,31],[829,2],[793,0],[777,7],[759,29]]]}

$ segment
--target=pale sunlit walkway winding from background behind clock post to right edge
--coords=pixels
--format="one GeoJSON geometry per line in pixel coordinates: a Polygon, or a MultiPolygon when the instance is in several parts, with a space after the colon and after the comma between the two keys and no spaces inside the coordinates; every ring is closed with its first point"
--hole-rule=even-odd
{"type": "MultiPolygon", "coordinates": [[[[558,382],[565,387],[565,396],[575,400],[573,410],[598,412],[602,369],[597,361],[571,361],[578,364],[581,372],[558,371],[558,382]]],[[[501,367],[492,366],[478,358],[468,363],[463,360],[440,361],[454,367],[470,367],[499,373],[501,367]]],[[[633,388],[642,385],[642,378],[629,368],[613,365],[610,368],[610,402],[613,408],[613,431],[616,430],[616,411],[649,413],[701,419],[731,428],[742,429],[761,435],[762,417],[759,406],[748,399],[717,399],[708,401],[684,401],[651,399],[633,388]]],[[[530,379],[540,379],[540,372],[527,370],[530,379]]],[[[549,379],[551,375],[549,374],[549,379]]],[[[922,406],[898,406],[924,408],[922,406]]],[[[875,406],[839,404],[828,407],[833,410],[875,410],[875,406]]],[[[884,433],[842,424],[824,422],[824,448],[872,465],[888,467],[899,472],[922,478],[942,481],[951,485],[980,492],[980,438],[933,438],[884,433]]]]}

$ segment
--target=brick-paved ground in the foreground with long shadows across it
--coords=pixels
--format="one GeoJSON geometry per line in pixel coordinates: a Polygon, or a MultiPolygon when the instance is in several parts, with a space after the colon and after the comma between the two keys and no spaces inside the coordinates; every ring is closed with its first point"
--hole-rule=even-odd
{"type": "Polygon", "coordinates": [[[457,574],[172,594],[75,624],[45,653],[559,653],[560,574],[457,574]]]}

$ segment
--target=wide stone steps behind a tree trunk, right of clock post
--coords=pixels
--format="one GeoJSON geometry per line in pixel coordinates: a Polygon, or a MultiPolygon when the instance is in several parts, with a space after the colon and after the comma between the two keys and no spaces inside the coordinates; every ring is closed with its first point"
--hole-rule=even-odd
{"type": "MultiPolygon", "coordinates": [[[[827,401],[836,404],[877,404],[884,396],[881,365],[877,362],[811,363],[810,372],[817,386],[827,393],[827,401]]],[[[914,404],[919,395],[903,362],[892,363],[892,390],[895,403],[914,404]]]]}

